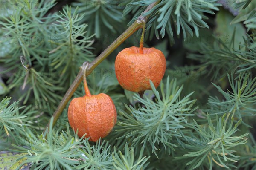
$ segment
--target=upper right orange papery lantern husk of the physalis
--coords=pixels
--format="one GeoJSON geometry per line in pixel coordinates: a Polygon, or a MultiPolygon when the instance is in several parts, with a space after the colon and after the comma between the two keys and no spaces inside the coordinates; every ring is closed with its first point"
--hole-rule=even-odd
{"type": "Polygon", "coordinates": [[[159,86],[166,70],[163,52],[155,48],[143,48],[143,52],[140,54],[139,47],[132,46],[116,56],[116,78],[124,89],[133,92],[151,89],[149,80],[159,86]]]}

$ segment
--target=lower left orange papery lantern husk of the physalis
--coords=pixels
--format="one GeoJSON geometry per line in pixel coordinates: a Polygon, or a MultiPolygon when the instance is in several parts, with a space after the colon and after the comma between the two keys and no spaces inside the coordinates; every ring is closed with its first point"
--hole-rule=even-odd
{"type": "Polygon", "coordinates": [[[70,126],[81,138],[85,133],[89,141],[98,141],[111,132],[116,124],[116,108],[112,99],[101,93],[74,98],[68,107],[70,126]]]}

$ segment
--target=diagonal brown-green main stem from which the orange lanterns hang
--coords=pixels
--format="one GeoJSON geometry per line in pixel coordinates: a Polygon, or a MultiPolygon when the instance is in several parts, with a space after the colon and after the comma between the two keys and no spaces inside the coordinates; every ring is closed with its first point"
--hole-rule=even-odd
{"type": "MultiPolygon", "coordinates": [[[[160,0],[151,3],[147,9],[145,9],[145,12],[148,12],[150,9],[152,9],[154,6],[156,6],[158,3],[160,3],[160,0]]],[[[106,48],[92,63],[89,64],[87,69],[85,69],[85,65],[80,67],[80,71],[78,75],[76,76],[75,80],[71,84],[70,88],[67,90],[66,94],[64,95],[63,99],[61,100],[61,103],[58,105],[58,108],[53,113],[53,123],[52,127],[56,124],[56,121],[60,117],[61,113],[65,109],[68,101],[72,97],[73,93],[76,91],[77,87],[83,80],[83,76],[87,77],[90,75],[91,72],[93,72],[93,69],[96,68],[96,66],[99,65],[105,58],[108,57],[108,55],[111,54],[120,44],[122,44],[128,37],[130,37],[137,29],[142,28],[143,23],[141,21],[147,21],[148,16],[143,16],[143,13],[140,15],[137,21],[135,21],[131,26],[128,27],[128,29],[125,30],[113,43],[111,43],[108,48],[106,48]],[[84,72],[86,74],[84,75],[84,72]]],[[[48,122],[47,126],[44,129],[44,134],[47,133],[46,130],[49,129],[50,121],[48,122]]]]}

